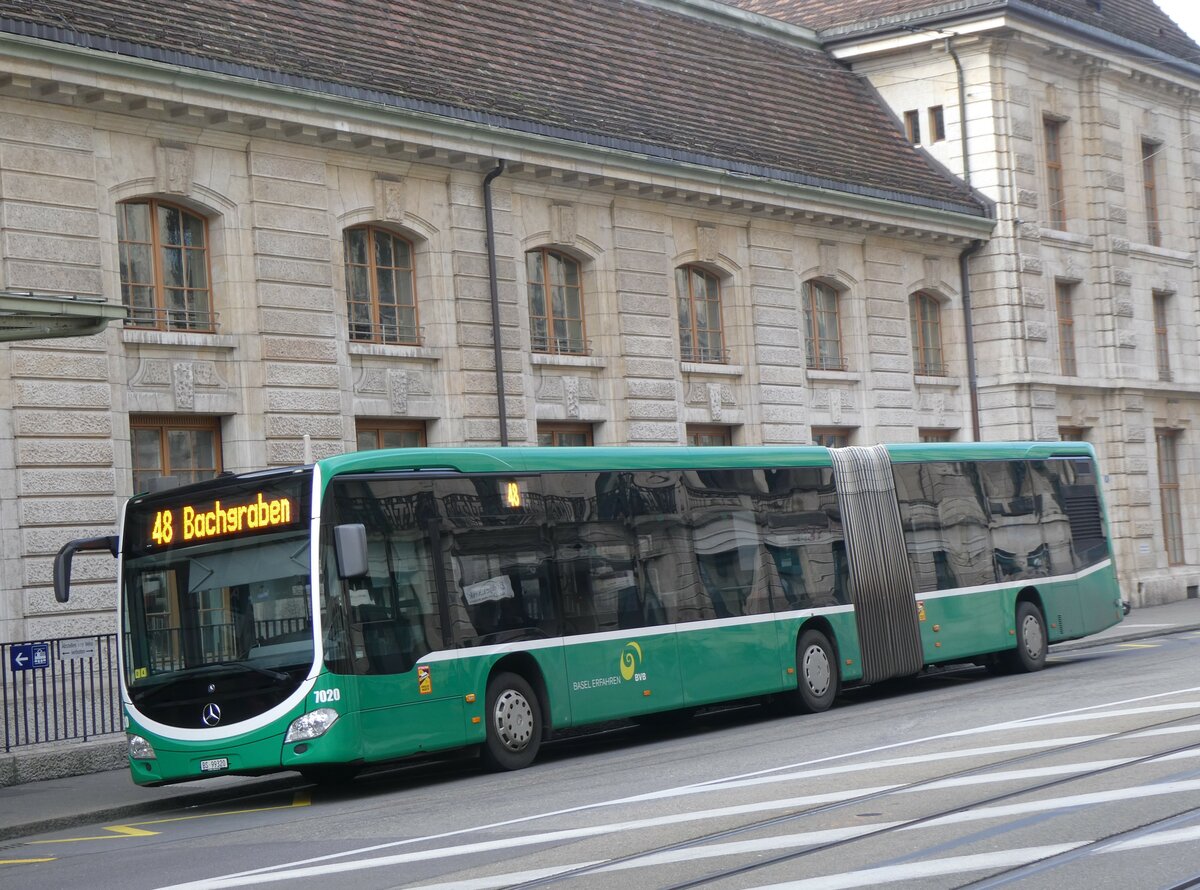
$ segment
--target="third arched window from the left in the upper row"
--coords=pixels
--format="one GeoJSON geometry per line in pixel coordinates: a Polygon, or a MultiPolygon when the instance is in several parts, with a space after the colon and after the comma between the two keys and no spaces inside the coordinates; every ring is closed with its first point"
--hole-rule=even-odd
{"type": "Polygon", "coordinates": [[[540,247],[526,254],[529,335],[535,353],[587,355],[580,264],[540,247]]]}

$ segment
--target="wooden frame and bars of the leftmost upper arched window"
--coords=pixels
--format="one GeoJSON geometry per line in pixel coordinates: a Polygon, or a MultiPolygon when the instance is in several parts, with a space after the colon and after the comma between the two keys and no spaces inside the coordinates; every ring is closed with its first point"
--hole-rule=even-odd
{"type": "Polygon", "coordinates": [[[121,302],[130,311],[125,320],[127,327],[143,327],[156,331],[191,331],[197,333],[214,333],[217,329],[217,315],[212,311],[212,254],[211,237],[209,235],[209,221],[203,214],[198,214],[182,204],[160,200],[157,198],[131,198],[116,205],[116,249],[119,254],[118,275],[121,282],[121,302]],[[131,239],[130,227],[126,222],[131,208],[146,208],[149,214],[149,241],[137,241],[131,239]],[[180,220],[180,243],[164,245],[158,225],[160,210],[178,212],[180,220]],[[182,222],[185,218],[196,220],[200,223],[204,243],[199,246],[187,245],[184,236],[182,222]],[[132,269],[128,254],[137,247],[149,248],[150,267],[154,281],[132,281],[127,270],[132,269]],[[179,285],[168,285],[164,272],[164,255],[167,251],[178,251],[180,254],[180,275],[182,281],[179,285]],[[191,287],[188,270],[192,266],[191,254],[203,255],[204,283],[205,287],[191,287]],[[149,290],[154,297],[154,306],[136,306],[133,300],[134,289],[149,290]],[[181,291],[184,294],[185,308],[172,308],[168,306],[167,291],[181,291]],[[192,308],[196,295],[203,294],[205,308],[192,308]]]}

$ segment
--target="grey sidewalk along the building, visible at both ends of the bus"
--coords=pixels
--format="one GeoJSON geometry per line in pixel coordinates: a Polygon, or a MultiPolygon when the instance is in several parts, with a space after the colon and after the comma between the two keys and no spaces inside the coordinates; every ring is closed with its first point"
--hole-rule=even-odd
{"type": "MultiPolygon", "coordinates": [[[[1134,609],[1116,627],[1087,639],[1054,645],[1051,653],[1195,630],[1200,630],[1200,600],[1183,600],[1134,609]]],[[[95,822],[130,824],[139,817],[152,818],[152,813],[220,804],[251,792],[269,793],[307,784],[295,772],[281,772],[258,778],[217,776],[163,788],[140,788],[133,784],[124,766],[124,739],[109,738],[11,754],[8,759],[14,763],[8,768],[23,783],[0,787],[0,841],[95,822]],[[30,781],[34,776],[54,775],[55,764],[78,771],[80,762],[89,759],[97,771],[30,781]],[[114,768],[118,764],[122,765],[114,768]]],[[[0,762],[0,769],[4,766],[0,762]]]]}

